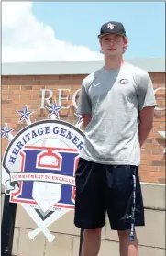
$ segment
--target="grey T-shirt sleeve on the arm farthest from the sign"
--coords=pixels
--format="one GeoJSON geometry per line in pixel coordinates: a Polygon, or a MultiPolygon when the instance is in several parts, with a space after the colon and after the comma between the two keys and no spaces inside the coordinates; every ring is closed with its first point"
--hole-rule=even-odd
{"type": "Polygon", "coordinates": [[[153,84],[149,73],[141,75],[138,84],[138,109],[142,110],[146,106],[156,106],[153,84]]]}

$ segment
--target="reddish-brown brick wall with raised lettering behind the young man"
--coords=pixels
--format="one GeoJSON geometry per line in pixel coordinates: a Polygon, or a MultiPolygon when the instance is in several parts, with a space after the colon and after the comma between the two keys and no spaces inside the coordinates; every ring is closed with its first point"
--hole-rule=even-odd
{"type": "MultiPolygon", "coordinates": [[[[149,73],[154,89],[165,87],[165,73],[149,73]]],[[[62,106],[71,104],[69,109],[61,110],[62,120],[76,123],[74,106],[72,106],[72,95],[80,88],[80,84],[86,75],[49,75],[49,76],[3,76],[2,77],[2,126],[7,122],[8,127],[14,129],[16,134],[26,123],[18,122],[17,110],[22,110],[25,104],[28,109],[34,111],[31,122],[48,117],[47,109],[40,109],[41,90],[51,89],[53,91],[52,101],[57,98],[60,88],[70,89],[69,102],[62,101],[62,106]]],[[[66,96],[66,95],[63,95],[66,96]]],[[[156,94],[157,105],[165,106],[165,91],[160,90],[156,94]]],[[[153,129],[149,138],[141,150],[140,180],[148,183],[165,183],[165,139],[158,131],[165,130],[165,110],[155,111],[153,129]]],[[[6,150],[7,139],[2,139],[2,154],[6,150]]]]}

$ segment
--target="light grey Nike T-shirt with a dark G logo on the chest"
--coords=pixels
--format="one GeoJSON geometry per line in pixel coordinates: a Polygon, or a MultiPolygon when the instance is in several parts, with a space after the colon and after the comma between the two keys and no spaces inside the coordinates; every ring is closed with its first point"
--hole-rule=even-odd
{"type": "Polygon", "coordinates": [[[91,114],[80,156],[103,164],[139,165],[138,112],[155,106],[148,72],[125,62],[83,79],[77,113],[91,114]]]}

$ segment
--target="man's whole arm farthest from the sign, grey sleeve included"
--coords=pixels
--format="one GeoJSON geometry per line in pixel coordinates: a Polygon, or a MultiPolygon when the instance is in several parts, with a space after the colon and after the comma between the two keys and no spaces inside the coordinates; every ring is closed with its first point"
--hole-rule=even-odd
{"type": "Polygon", "coordinates": [[[141,75],[138,86],[138,114],[139,126],[138,136],[140,147],[149,136],[149,132],[153,127],[154,107],[156,100],[154,95],[153,84],[149,77],[149,73],[145,72],[141,75]]]}

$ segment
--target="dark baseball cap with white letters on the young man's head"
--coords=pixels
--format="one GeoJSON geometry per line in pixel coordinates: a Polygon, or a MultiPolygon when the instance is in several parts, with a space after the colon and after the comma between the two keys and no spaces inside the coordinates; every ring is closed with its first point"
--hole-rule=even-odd
{"type": "Polygon", "coordinates": [[[100,35],[98,38],[101,39],[103,36],[108,34],[117,34],[123,37],[127,37],[126,30],[121,22],[109,21],[102,25],[100,29],[100,35]]]}

